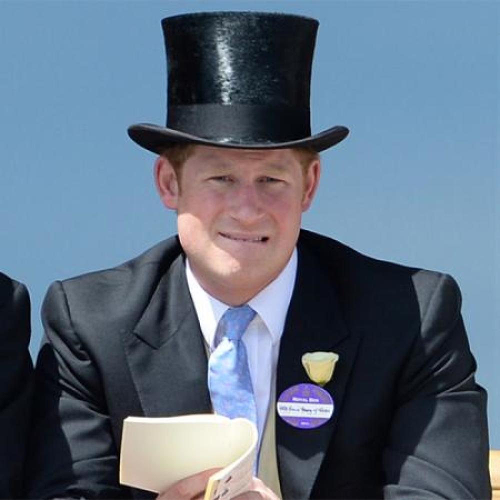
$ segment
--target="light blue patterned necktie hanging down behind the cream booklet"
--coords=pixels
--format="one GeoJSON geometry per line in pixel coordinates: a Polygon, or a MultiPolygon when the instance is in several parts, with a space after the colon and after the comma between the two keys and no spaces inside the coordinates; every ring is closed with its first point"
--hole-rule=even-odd
{"type": "Polygon", "coordinates": [[[208,390],[215,413],[242,416],[256,424],[255,395],[241,337],[255,316],[249,305],[230,307],[217,325],[208,360],[208,390]]]}

